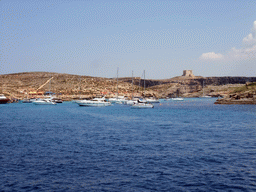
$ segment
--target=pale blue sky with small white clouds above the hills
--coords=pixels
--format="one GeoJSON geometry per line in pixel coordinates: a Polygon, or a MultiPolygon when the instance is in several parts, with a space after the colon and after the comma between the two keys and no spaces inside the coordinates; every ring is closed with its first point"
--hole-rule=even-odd
{"type": "Polygon", "coordinates": [[[0,74],[256,76],[255,0],[0,0],[0,74]]]}

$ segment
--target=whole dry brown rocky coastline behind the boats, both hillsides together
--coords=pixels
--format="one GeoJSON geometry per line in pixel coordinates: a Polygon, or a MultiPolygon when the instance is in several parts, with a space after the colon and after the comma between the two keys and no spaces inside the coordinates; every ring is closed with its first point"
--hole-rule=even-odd
{"type": "MultiPolygon", "coordinates": [[[[227,97],[246,82],[256,82],[256,77],[174,77],[145,80],[145,96],[166,97],[227,97]]],[[[40,97],[47,91],[63,100],[92,98],[99,95],[116,96],[117,80],[49,72],[29,72],[0,75],[0,92],[15,99],[40,97]]],[[[138,77],[119,78],[118,94],[141,96],[144,81],[138,77]]]]}

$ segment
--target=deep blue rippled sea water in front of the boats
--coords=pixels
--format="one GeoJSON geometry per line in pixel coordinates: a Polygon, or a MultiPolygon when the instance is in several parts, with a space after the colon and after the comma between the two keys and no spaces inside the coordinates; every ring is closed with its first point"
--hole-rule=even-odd
{"type": "Polygon", "coordinates": [[[256,191],[256,106],[0,105],[0,191],[256,191]]]}

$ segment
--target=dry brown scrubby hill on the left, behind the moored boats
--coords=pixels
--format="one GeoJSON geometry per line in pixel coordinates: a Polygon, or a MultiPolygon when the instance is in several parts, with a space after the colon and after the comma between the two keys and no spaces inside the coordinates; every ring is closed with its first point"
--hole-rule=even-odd
{"type": "MultiPolygon", "coordinates": [[[[137,78],[138,79],[138,78],[137,78]]],[[[8,74],[0,76],[0,92],[8,98],[40,97],[45,92],[53,92],[63,100],[77,98],[92,98],[100,95],[114,97],[117,91],[117,80],[90,76],[79,76],[48,72],[30,72],[8,74]]],[[[119,95],[140,96],[142,88],[127,82],[127,79],[118,80],[119,95]],[[132,91],[134,90],[134,91],[132,91]]],[[[155,96],[153,91],[146,90],[149,96],[155,96]]]]}

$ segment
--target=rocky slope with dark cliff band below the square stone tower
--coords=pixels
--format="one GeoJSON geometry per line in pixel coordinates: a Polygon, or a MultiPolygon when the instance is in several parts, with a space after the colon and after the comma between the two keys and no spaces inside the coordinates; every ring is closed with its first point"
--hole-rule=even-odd
{"type": "Polygon", "coordinates": [[[224,97],[256,77],[174,77],[166,80],[147,80],[146,87],[165,97],[224,97]]]}

